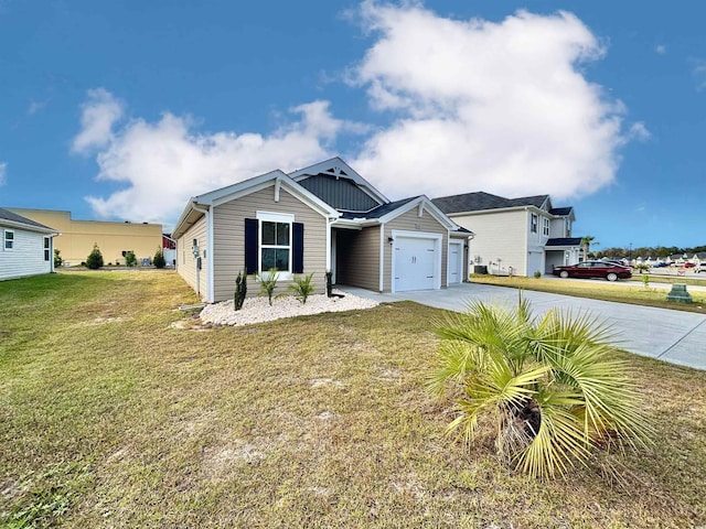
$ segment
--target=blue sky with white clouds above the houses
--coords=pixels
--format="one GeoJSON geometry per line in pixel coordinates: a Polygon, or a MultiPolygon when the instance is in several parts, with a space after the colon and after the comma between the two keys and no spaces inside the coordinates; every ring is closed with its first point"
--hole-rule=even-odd
{"type": "Polygon", "coordinates": [[[0,206],[161,222],[341,155],[391,199],[706,244],[706,4],[0,0],[0,206]]]}

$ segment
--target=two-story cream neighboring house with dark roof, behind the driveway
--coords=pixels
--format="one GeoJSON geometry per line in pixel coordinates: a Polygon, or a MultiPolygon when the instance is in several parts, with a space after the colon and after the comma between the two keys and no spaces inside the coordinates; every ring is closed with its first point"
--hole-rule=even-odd
{"type": "Polygon", "coordinates": [[[477,192],[431,201],[454,223],[472,229],[473,271],[531,277],[575,264],[582,256],[574,237],[573,207],[554,207],[549,195],[505,198],[477,192]]]}

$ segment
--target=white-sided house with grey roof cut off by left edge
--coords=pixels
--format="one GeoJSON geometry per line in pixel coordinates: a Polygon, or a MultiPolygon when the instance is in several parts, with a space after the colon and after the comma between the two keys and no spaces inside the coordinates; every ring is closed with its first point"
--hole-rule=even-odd
{"type": "Polygon", "coordinates": [[[0,280],[54,271],[54,228],[0,207],[0,280]]]}

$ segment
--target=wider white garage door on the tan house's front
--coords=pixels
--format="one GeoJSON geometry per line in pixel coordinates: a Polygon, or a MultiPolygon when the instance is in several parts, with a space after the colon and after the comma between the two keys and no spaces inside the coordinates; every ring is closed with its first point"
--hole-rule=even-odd
{"type": "Polygon", "coordinates": [[[394,291],[436,288],[438,250],[435,239],[395,237],[394,291]]]}

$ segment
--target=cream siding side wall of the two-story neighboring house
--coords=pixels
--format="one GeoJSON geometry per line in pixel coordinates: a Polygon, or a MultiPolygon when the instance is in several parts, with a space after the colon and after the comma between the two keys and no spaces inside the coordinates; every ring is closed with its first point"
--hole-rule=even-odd
{"type": "MultiPolygon", "coordinates": [[[[469,259],[473,266],[488,267],[489,273],[507,273],[512,267],[516,276],[527,276],[527,210],[483,212],[481,215],[449,215],[453,222],[475,234],[469,259]],[[492,267],[490,263],[493,263],[492,267]]],[[[542,230],[539,220],[538,230],[542,230]]]]}

